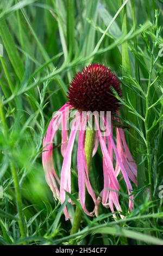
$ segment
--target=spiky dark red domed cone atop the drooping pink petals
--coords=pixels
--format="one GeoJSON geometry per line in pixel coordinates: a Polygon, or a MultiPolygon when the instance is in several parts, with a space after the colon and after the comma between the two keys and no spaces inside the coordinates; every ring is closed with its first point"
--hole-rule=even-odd
{"type": "Polygon", "coordinates": [[[120,83],[111,70],[104,65],[86,66],[83,72],[73,77],[68,90],[70,105],[79,111],[111,111],[115,113],[120,106],[111,91],[114,88],[121,96],[120,83]]]}

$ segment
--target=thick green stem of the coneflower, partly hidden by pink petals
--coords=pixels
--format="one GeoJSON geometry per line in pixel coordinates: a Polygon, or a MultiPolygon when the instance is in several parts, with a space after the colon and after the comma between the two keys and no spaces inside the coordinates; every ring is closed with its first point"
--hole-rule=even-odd
{"type": "MultiPolygon", "coordinates": [[[[90,171],[90,168],[91,168],[92,152],[93,152],[93,147],[95,145],[95,135],[96,135],[95,130],[89,130],[89,129],[86,130],[85,156],[86,156],[88,172],[90,171]]],[[[81,220],[82,220],[82,211],[77,207],[74,215],[71,232],[70,232],[71,235],[78,232],[81,220]]]]}

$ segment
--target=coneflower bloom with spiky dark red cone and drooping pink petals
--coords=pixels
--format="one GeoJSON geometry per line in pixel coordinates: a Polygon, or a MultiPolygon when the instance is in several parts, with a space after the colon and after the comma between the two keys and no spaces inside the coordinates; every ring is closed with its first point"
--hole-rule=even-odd
{"type": "MultiPolygon", "coordinates": [[[[47,184],[53,192],[55,199],[59,199],[61,204],[65,202],[66,191],[71,193],[71,158],[73,145],[78,133],[78,151],[77,151],[77,171],[79,200],[84,212],[92,216],[98,215],[98,204],[109,208],[112,212],[115,209],[121,212],[121,206],[118,199],[120,185],[117,176],[122,173],[126,182],[129,194],[129,210],[133,209],[133,188],[131,182],[136,185],[137,168],[130,154],[126,143],[124,131],[121,127],[116,127],[116,143],[112,134],[114,120],[120,121],[115,117],[119,114],[118,108],[120,102],[112,93],[112,88],[121,96],[120,83],[114,73],[104,65],[94,64],[86,66],[82,72],[78,72],[70,83],[68,90],[68,102],[54,114],[49,123],[46,135],[43,139],[42,163],[45,170],[47,184]],[[70,111],[76,109],[76,115],[73,120],[70,135],[68,135],[68,117],[70,111]],[[99,120],[95,114],[94,123],[95,142],[93,143],[93,155],[96,154],[98,144],[101,146],[103,154],[103,177],[104,187],[99,195],[95,194],[89,179],[89,170],[87,168],[85,156],[85,134],[89,117],[92,112],[103,113],[101,122],[103,127],[109,133],[103,133],[99,120]],[[107,112],[111,112],[111,118],[108,122],[107,112]],[[84,114],[83,114],[84,113],[84,114]],[[63,156],[60,177],[55,172],[53,165],[53,139],[61,125],[61,154],[63,156]],[[114,153],[114,154],[113,154],[114,153]],[[115,162],[115,164],[114,164],[115,162]],[[85,206],[85,188],[95,203],[93,212],[89,212],[85,206]]],[[[93,128],[92,128],[93,129],[93,128]]],[[[73,203],[71,199],[68,202],[73,203]]],[[[66,220],[70,218],[65,206],[64,213],[66,220]]],[[[121,215],[121,217],[123,217],[121,215]]]]}

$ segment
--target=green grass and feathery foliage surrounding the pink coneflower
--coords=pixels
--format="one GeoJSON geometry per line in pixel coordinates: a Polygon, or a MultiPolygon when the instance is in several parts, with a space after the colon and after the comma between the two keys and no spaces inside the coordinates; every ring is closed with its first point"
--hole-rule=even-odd
{"type": "MultiPolygon", "coordinates": [[[[0,3],[0,243],[57,245],[163,245],[162,237],[162,1],[22,0],[0,3]],[[72,77],[89,63],[109,66],[121,81],[121,116],[138,167],[135,208],[124,220],[103,207],[83,215],[70,235],[74,206],[65,221],[46,184],[42,138],[52,113],[66,102],[72,77]]],[[[60,143],[60,135],[54,141],[60,143]]],[[[76,152],[72,196],[78,197],[76,152]]],[[[61,169],[60,148],[54,164],[61,169]]],[[[103,186],[102,155],[93,158],[92,186],[103,186]]],[[[90,202],[91,207],[91,202],[90,202]]]]}

